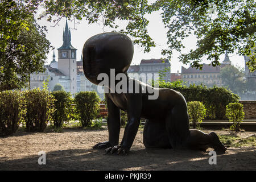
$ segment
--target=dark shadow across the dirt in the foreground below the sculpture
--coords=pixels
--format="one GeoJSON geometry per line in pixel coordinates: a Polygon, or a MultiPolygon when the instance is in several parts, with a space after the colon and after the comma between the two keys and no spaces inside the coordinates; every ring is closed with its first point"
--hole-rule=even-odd
{"type": "MultiPolygon", "coordinates": [[[[237,149],[236,149],[237,150],[237,149]]],[[[103,150],[58,150],[46,153],[46,165],[38,164],[37,155],[22,159],[0,158],[0,170],[255,170],[255,148],[217,156],[200,151],[134,150],[129,155],[104,155],[103,150]]]]}

